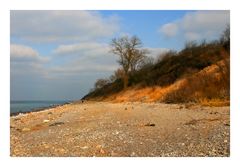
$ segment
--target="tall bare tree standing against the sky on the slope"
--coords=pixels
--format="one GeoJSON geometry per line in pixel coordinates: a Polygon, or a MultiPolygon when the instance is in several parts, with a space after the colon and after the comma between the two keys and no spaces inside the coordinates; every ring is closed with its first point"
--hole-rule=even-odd
{"type": "Polygon", "coordinates": [[[138,63],[147,53],[147,50],[141,49],[141,47],[142,42],[137,36],[112,39],[111,52],[119,56],[118,63],[124,71],[124,89],[128,86],[130,72],[136,70],[138,63]]]}

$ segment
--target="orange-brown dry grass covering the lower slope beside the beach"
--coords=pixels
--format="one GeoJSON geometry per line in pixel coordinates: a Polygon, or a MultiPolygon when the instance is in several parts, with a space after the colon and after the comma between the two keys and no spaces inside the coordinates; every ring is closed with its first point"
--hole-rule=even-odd
{"type": "Polygon", "coordinates": [[[222,60],[169,86],[130,87],[104,98],[104,101],[197,102],[204,106],[226,106],[230,104],[230,73],[228,70],[229,60],[222,60]]]}

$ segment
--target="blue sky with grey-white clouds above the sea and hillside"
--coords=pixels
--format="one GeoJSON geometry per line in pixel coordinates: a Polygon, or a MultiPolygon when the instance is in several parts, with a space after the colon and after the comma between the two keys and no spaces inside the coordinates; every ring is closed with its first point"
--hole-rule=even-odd
{"type": "Polygon", "coordinates": [[[187,41],[212,41],[229,11],[10,12],[11,100],[77,100],[119,65],[112,38],[137,35],[157,57],[187,41]]]}

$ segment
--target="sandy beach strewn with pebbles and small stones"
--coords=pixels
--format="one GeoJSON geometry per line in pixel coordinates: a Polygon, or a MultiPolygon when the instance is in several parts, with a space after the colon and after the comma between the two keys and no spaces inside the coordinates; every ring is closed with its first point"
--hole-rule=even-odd
{"type": "Polygon", "coordinates": [[[11,116],[11,156],[230,156],[230,107],[76,102],[11,116]]]}

